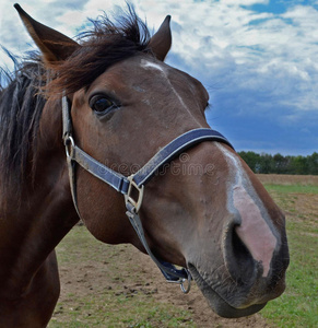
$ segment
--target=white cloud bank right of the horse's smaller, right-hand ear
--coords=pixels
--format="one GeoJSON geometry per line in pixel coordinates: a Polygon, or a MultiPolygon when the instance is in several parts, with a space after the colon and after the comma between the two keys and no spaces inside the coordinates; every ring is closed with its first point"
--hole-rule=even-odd
{"type": "Polygon", "coordinates": [[[297,115],[317,110],[317,10],[295,7],[274,15],[235,3],[235,10],[234,1],[187,1],[170,9],[173,22],[181,26],[174,33],[172,50],[181,65],[212,85],[249,90],[251,96],[267,90],[276,106],[290,106],[297,115]]]}

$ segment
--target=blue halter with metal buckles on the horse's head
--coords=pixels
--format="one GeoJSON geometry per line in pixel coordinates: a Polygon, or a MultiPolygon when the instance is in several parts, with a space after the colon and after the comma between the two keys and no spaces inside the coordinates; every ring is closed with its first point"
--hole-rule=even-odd
{"type": "Polygon", "coordinates": [[[125,196],[125,202],[127,208],[127,216],[129,218],[133,229],[136,230],[143,247],[149,256],[157,265],[168,282],[179,283],[184,293],[188,293],[190,290],[191,274],[188,269],[177,269],[175,266],[168,262],[164,262],[156,258],[151,251],[148,242],[144,236],[144,231],[139,216],[139,210],[142,204],[144,185],[151,179],[151,177],[161,168],[164,164],[169,163],[174,157],[180,154],[186,149],[200,143],[202,141],[217,141],[229,145],[232,144],[217,131],[211,129],[195,129],[187,131],[186,133],[177,137],[167,145],[162,148],[137,173],[126,177],[122,174],[115,172],[114,169],[103,165],[94,160],[87,153],[82,151],[75,145],[72,138],[72,120],[71,120],[71,106],[66,96],[62,97],[62,118],[63,118],[63,141],[67,152],[67,161],[69,166],[71,194],[74,202],[74,207],[80,216],[76,199],[76,180],[75,180],[75,165],[81,165],[84,169],[92,175],[103,180],[115,190],[121,192],[125,196]],[[136,192],[138,191],[138,192],[136,192]],[[136,199],[132,197],[132,192],[138,195],[136,199]],[[188,282],[185,286],[185,282],[188,282]]]}

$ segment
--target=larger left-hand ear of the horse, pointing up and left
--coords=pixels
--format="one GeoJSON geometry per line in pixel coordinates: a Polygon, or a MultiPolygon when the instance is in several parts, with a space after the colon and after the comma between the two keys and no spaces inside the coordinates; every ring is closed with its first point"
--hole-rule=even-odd
{"type": "Polygon", "coordinates": [[[64,60],[80,47],[78,43],[68,36],[35,21],[20,4],[15,3],[14,8],[17,10],[28,34],[40,49],[46,62],[52,63],[54,61],[64,60]]]}

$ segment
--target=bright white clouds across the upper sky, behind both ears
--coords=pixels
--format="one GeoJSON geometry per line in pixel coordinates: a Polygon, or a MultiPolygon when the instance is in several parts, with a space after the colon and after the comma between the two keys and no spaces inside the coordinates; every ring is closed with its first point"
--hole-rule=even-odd
{"type": "MultiPolygon", "coordinates": [[[[33,44],[26,34],[17,13],[10,4],[1,2],[1,40],[13,51],[22,52],[26,44],[33,44]]],[[[193,73],[205,73],[205,80],[228,74],[226,82],[244,75],[244,85],[255,84],[252,80],[268,82],[270,78],[298,80],[318,84],[316,78],[318,58],[318,11],[309,5],[296,5],[286,13],[258,13],[251,4],[268,4],[268,0],[221,0],[196,2],[185,0],[134,0],[139,15],[146,17],[155,31],[166,14],[173,16],[174,43],[172,56],[181,58],[193,73]],[[247,5],[242,7],[242,5],[247,5]],[[242,71],[246,71],[242,74],[242,71]]],[[[86,22],[96,17],[102,10],[113,11],[125,1],[82,0],[61,1],[28,0],[23,8],[36,20],[74,36],[86,22]]],[[[172,57],[170,56],[170,57],[172,57]]],[[[220,83],[215,81],[212,83],[220,83]]],[[[303,89],[308,89],[303,85],[303,89]]],[[[287,91],[286,91],[287,92],[287,91]]],[[[316,97],[315,97],[316,98],[316,97]]],[[[296,104],[297,102],[294,102],[296,104]]],[[[303,103],[303,102],[302,102],[303,103]]],[[[315,102],[314,102],[315,103],[315,102]]],[[[307,102],[313,104],[313,102],[307,102]]]]}

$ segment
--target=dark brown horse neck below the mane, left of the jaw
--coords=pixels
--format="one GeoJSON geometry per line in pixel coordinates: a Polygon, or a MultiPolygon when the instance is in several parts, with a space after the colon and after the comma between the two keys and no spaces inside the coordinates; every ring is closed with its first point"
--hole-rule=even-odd
{"type": "Polygon", "coordinates": [[[23,290],[79,220],[70,195],[63,149],[58,143],[47,143],[48,136],[38,143],[42,145],[34,181],[24,181],[21,195],[11,194],[10,198],[2,195],[5,212],[0,218],[0,285],[9,290],[23,290]]]}

